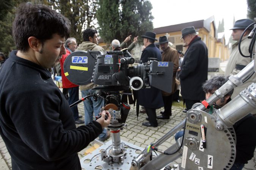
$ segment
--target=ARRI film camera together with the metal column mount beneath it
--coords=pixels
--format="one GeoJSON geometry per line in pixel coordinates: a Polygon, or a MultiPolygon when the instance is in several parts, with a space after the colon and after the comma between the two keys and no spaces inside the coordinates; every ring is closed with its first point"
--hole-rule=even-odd
{"type": "MultiPolygon", "coordinates": [[[[86,85],[94,83],[99,90],[94,95],[84,97],[104,98],[102,110],[109,111],[111,121],[108,129],[111,131],[112,146],[101,150],[101,160],[107,162],[104,169],[115,166],[128,165],[127,148],[121,142],[120,130],[126,127],[126,119],[130,111],[127,103],[121,103],[120,91],[131,87],[133,90],[155,87],[171,93],[173,77],[173,63],[159,62],[156,59],[149,59],[147,63],[139,63],[136,66],[129,66],[135,59],[127,50],[109,51],[103,54],[99,51],[75,51],[71,53],[64,62],[64,74],[74,84],[86,85]],[[109,149],[107,151],[107,149],[109,149]]],[[[84,99],[81,99],[82,101],[84,99]]]]}

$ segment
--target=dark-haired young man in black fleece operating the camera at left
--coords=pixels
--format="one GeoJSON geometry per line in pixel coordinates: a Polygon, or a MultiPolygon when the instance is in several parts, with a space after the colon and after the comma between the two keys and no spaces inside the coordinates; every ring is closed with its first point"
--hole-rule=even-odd
{"type": "Polygon", "coordinates": [[[66,54],[69,33],[69,20],[49,7],[23,3],[17,9],[18,50],[0,69],[0,134],[13,170],[81,170],[77,152],[110,123],[110,114],[102,112],[76,128],[68,101],[47,71],[66,54]]]}

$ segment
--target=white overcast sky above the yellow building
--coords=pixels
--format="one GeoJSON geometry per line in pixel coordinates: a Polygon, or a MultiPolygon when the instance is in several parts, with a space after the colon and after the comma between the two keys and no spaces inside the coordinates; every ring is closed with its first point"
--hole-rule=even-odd
{"type": "Polygon", "coordinates": [[[216,27],[224,19],[225,36],[235,20],[247,18],[247,0],[150,0],[154,28],[205,20],[214,15],[216,27]]]}

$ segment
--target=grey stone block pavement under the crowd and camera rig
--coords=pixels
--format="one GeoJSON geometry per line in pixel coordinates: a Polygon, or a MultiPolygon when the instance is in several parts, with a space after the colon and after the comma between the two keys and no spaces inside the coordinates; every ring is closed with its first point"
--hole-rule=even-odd
{"type": "MultiPolygon", "coordinates": [[[[81,97],[81,94],[80,94],[81,97]]],[[[83,115],[84,119],[84,109],[83,103],[78,105],[79,114],[83,115]]],[[[131,106],[131,110],[129,112],[127,118],[127,129],[121,131],[121,140],[127,141],[139,147],[145,148],[151,142],[156,142],[160,139],[165,133],[170,131],[175,125],[177,125],[182,119],[185,118],[185,113],[182,112],[182,107],[174,107],[172,109],[172,116],[170,120],[159,120],[158,127],[144,127],[141,124],[146,120],[146,113],[140,113],[138,120],[136,116],[136,110],[131,106]]],[[[160,113],[160,109],[157,110],[157,113],[160,113]]],[[[111,140],[109,138],[107,141],[111,140]]],[[[165,141],[159,148],[165,150],[175,143],[174,137],[172,136],[170,139],[165,141]]],[[[87,150],[91,145],[83,149],[79,152],[79,157],[82,158],[84,156],[85,150],[87,150]]],[[[256,170],[256,154],[254,151],[254,158],[245,165],[243,170],[256,170]]],[[[181,163],[181,158],[172,162],[172,164],[181,163]]],[[[0,169],[1,170],[10,170],[11,169],[11,157],[5,147],[5,144],[0,137],[0,169]]]]}

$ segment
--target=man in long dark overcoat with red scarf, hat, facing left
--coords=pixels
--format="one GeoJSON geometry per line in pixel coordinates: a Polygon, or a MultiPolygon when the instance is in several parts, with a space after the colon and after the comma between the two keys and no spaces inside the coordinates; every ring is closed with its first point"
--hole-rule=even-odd
{"type": "Polygon", "coordinates": [[[193,104],[204,100],[205,93],[202,84],[207,80],[208,50],[201,37],[196,35],[195,28],[187,27],[181,30],[182,37],[188,49],[185,53],[181,71],[181,95],[185,100],[187,110],[193,104]]]}

